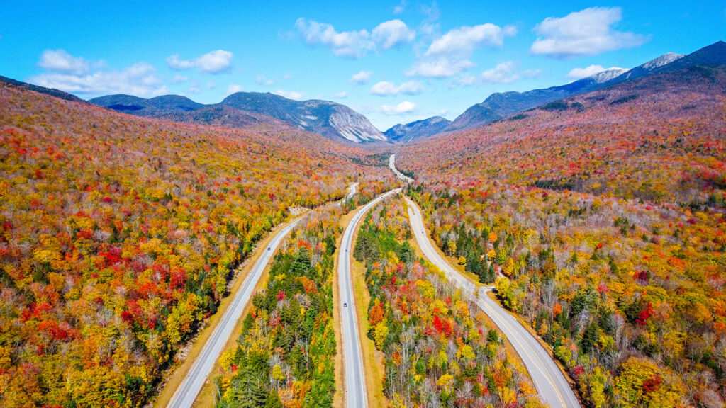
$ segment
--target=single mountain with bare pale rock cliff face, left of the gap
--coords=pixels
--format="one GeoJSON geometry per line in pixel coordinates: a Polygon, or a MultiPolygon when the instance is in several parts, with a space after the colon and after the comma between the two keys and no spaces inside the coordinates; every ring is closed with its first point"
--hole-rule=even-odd
{"type": "Polygon", "coordinates": [[[295,101],[269,92],[237,92],[225,98],[221,105],[268,115],[328,139],[340,141],[342,138],[356,143],[388,141],[365,116],[335,102],[295,101]]]}

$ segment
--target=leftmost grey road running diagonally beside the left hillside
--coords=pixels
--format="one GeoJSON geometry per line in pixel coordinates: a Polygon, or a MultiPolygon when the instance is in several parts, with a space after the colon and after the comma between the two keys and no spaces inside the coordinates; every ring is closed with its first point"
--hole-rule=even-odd
{"type": "Polygon", "coordinates": [[[221,317],[217,327],[215,327],[212,335],[205,343],[201,353],[197,356],[196,361],[192,364],[192,368],[189,369],[187,376],[184,381],[181,382],[179,388],[176,389],[174,396],[171,397],[167,408],[190,408],[194,404],[195,399],[199,391],[202,389],[209,373],[214,367],[214,363],[219,359],[219,354],[222,348],[227,343],[229,336],[234,331],[234,326],[237,325],[237,320],[240,319],[242,311],[245,309],[245,305],[249,303],[250,298],[253,295],[257,281],[260,280],[262,272],[264,272],[265,266],[272,259],[277,247],[280,245],[282,240],[285,239],[287,234],[295,228],[302,218],[295,219],[275,234],[272,241],[265,248],[264,253],[258,258],[257,262],[253,266],[250,273],[245,278],[245,282],[242,283],[242,287],[234,295],[232,303],[229,304],[227,311],[224,312],[224,316],[221,317]]]}

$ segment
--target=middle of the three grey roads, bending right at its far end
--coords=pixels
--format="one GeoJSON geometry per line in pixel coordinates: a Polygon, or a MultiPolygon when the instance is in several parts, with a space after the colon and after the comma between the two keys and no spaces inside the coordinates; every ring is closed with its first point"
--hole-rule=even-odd
{"type": "Polygon", "coordinates": [[[356,302],[351,282],[351,256],[353,256],[353,235],[358,224],[368,210],[378,204],[380,200],[401,189],[393,189],[379,195],[360,209],[348,223],[343,232],[343,240],[338,250],[338,285],[340,290],[340,329],[343,332],[343,367],[346,378],[345,401],[347,408],[366,407],[367,395],[365,387],[365,370],[363,354],[358,335],[358,321],[356,318],[356,302]],[[346,306],[347,305],[347,306],[346,306]]]}

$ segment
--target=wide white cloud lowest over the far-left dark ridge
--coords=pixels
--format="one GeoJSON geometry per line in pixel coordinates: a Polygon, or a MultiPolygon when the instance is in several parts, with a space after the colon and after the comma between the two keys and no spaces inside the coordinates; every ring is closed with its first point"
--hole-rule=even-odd
{"type": "Polygon", "coordinates": [[[156,69],[146,62],[136,63],[120,71],[97,70],[83,74],[46,72],[28,78],[28,82],[81,94],[85,97],[104,94],[155,97],[168,93],[168,89],[163,85],[156,69]]]}

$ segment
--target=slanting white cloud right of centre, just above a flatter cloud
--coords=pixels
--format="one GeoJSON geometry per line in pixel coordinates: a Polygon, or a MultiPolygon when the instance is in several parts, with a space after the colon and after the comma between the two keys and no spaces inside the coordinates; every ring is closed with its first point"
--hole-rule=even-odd
{"type": "Polygon", "coordinates": [[[464,25],[454,28],[441,38],[433,41],[426,50],[427,57],[469,57],[479,46],[501,47],[505,36],[514,36],[517,29],[513,26],[505,28],[492,23],[469,27],[464,25]]]}

